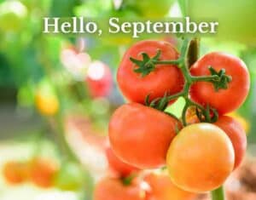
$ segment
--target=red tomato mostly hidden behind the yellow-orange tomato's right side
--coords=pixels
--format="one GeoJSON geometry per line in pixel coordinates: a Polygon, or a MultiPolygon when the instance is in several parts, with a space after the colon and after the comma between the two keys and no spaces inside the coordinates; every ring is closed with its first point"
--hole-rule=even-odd
{"type": "Polygon", "coordinates": [[[235,119],[228,116],[218,117],[218,121],[214,123],[230,137],[232,145],[235,150],[235,167],[236,169],[242,161],[243,156],[247,150],[247,135],[242,129],[241,124],[235,119]]]}

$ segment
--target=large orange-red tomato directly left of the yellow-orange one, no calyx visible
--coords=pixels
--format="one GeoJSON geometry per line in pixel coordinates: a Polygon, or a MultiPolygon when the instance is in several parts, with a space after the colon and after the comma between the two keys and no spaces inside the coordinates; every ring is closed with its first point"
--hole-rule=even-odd
{"type": "Polygon", "coordinates": [[[180,124],[177,119],[137,103],[120,106],[108,126],[111,147],[117,157],[138,169],[159,168],[180,124]]]}

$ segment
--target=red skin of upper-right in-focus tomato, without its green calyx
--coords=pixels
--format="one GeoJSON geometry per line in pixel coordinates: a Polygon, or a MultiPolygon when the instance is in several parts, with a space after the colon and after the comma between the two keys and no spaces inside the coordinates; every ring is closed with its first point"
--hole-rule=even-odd
{"type": "Polygon", "coordinates": [[[214,90],[212,83],[194,83],[190,89],[192,100],[204,106],[212,106],[219,114],[225,114],[236,110],[247,97],[250,88],[250,77],[247,66],[235,56],[213,52],[204,55],[195,62],[190,72],[193,76],[210,75],[208,67],[212,66],[219,71],[225,69],[226,74],[232,77],[228,89],[214,90]]]}

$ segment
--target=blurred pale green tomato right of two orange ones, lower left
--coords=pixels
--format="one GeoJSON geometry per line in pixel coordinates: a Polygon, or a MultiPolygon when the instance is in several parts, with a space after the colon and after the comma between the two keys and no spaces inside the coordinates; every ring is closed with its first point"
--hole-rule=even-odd
{"type": "Polygon", "coordinates": [[[55,186],[63,191],[79,191],[88,184],[91,184],[90,177],[78,163],[63,163],[55,176],[55,186]]]}

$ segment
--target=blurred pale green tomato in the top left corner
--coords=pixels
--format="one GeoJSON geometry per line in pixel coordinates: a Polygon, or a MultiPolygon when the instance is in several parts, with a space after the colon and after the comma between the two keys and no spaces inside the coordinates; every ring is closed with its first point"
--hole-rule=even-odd
{"type": "Polygon", "coordinates": [[[0,29],[20,31],[26,19],[27,9],[19,1],[6,1],[0,4],[0,29]]]}

